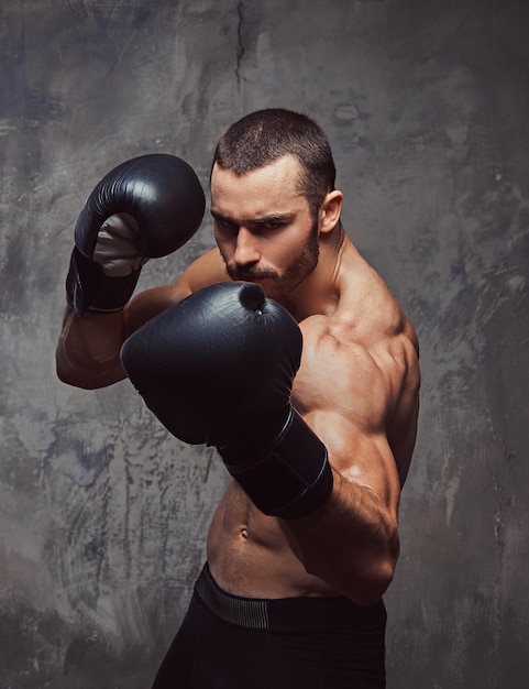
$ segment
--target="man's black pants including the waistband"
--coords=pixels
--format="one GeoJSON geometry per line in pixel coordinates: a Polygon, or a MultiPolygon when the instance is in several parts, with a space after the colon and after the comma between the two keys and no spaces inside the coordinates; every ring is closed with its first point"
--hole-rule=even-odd
{"type": "Polygon", "coordinates": [[[153,689],[383,689],[384,603],[230,595],[206,566],[153,689]]]}

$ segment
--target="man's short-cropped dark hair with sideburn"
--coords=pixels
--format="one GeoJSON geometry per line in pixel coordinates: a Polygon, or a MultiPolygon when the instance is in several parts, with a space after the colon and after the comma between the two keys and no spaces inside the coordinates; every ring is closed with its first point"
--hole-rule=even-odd
{"type": "Polygon", "coordinates": [[[306,114],[283,108],[246,114],[220,139],[213,165],[244,175],[284,155],[299,162],[299,192],[316,215],[327,194],[334,189],[337,168],[323,130],[306,114]]]}

